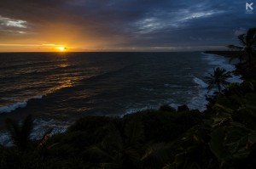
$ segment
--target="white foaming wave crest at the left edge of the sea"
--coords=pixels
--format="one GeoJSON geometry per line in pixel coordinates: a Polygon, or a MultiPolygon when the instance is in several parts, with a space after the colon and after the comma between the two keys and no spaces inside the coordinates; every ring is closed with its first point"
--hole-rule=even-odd
{"type": "MultiPolygon", "coordinates": [[[[35,96],[31,99],[42,99],[43,96],[40,95],[40,96],[35,96]]],[[[0,114],[1,113],[10,113],[11,111],[14,111],[18,108],[24,108],[26,107],[26,104],[31,100],[31,99],[26,99],[25,101],[22,101],[22,102],[19,102],[19,103],[16,103],[16,104],[11,104],[11,105],[7,105],[7,106],[3,106],[3,107],[0,107],[0,114]]]]}

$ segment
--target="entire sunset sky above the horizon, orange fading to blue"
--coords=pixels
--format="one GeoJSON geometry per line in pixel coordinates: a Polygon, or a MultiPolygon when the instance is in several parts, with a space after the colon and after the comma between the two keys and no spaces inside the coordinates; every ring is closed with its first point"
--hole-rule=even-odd
{"type": "Polygon", "coordinates": [[[249,0],[2,0],[0,52],[224,49],[255,23],[249,0]]]}

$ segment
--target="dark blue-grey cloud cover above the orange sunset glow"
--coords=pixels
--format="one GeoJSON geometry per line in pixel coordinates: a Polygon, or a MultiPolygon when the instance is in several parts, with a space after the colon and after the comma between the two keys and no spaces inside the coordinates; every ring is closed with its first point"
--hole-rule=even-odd
{"type": "Polygon", "coordinates": [[[105,48],[207,48],[236,42],[241,30],[255,26],[255,14],[246,14],[242,0],[9,0],[1,2],[0,16],[27,27],[8,27],[0,18],[0,34],[40,37],[63,25],[63,34],[105,48]]]}

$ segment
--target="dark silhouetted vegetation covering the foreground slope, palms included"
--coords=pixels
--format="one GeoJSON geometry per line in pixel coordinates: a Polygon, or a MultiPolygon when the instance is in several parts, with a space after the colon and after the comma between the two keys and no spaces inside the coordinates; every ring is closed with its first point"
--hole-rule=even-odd
{"type": "Polygon", "coordinates": [[[256,29],[251,39],[250,31],[239,37],[247,46],[236,65],[245,81],[229,84],[231,72],[214,69],[206,111],[163,105],[122,118],[84,116],[40,140],[29,139],[32,116],[21,125],[8,119],[14,146],[0,147],[0,168],[256,168],[256,29]]]}

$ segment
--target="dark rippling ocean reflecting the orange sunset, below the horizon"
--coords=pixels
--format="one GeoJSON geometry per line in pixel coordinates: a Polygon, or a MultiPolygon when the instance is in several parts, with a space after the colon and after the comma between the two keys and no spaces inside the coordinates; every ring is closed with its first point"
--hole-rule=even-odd
{"type": "MultiPolygon", "coordinates": [[[[0,53],[0,144],[4,120],[35,118],[34,138],[64,132],[84,115],[122,116],[162,104],[204,110],[204,77],[229,59],[187,53],[0,53]]],[[[234,76],[230,82],[240,82],[234,76]]]]}

